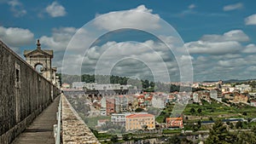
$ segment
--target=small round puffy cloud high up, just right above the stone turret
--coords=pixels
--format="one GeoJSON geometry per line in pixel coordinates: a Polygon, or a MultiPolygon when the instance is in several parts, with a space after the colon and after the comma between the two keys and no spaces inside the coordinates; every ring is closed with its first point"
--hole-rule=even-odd
{"type": "Polygon", "coordinates": [[[51,3],[45,10],[51,17],[60,17],[67,14],[65,8],[57,2],[51,3]]]}

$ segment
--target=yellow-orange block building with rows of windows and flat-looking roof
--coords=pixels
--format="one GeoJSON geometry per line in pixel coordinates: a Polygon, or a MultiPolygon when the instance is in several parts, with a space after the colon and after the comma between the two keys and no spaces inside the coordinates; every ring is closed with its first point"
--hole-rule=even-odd
{"type": "Polygon", "coordinates": [[[152,130],[155,129],[154,115],[135,113],[125,117],[126,130],[152,130]]]}

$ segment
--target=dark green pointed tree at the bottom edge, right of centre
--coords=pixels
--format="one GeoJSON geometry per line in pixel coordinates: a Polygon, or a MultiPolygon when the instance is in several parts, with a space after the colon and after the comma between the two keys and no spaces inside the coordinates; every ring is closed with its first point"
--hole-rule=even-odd
{"type": "Polygon", "coordinates": [[[207,138],[206,144],[229,144],[230,142],[230,133],[227,130],[226,126],[221,120],[217,120],[210,130],[209,137],[207,138]]]}

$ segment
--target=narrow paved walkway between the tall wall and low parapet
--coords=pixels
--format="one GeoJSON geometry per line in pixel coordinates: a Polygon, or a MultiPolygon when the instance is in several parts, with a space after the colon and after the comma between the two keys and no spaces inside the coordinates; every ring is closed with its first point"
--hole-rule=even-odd
{"type": "Polygon", "coordinates": [[[20,134],[13,144],[54,144],[53,125],[57,124],[56,112],[60,96],[49,105],[32,124],[20,134]]]}

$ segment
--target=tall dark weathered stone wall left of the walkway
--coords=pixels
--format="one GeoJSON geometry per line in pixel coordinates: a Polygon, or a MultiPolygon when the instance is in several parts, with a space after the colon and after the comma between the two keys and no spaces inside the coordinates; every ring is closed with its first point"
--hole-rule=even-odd
{"type": "Polygon", "coordinates": [[[8,144],[60,94],[0,40],[0,143],[8,144]]]}

